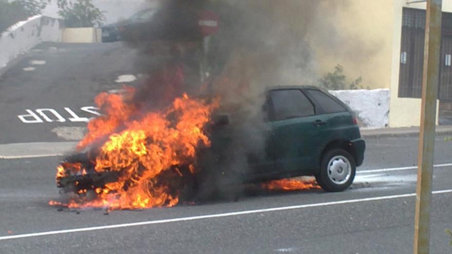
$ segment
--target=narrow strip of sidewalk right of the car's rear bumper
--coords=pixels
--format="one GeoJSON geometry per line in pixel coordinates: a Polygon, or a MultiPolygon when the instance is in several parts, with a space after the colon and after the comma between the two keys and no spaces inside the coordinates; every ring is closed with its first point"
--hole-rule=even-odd
{"type": "MultiPolygon", "coordinates": [[[[439,125],[436,127],[437,135],[452,135],[452,125],[439,125]]],[[[419,127],[362,129],[361,135],[365,139],[378,139],[400,136],[419,136],[419,127]]]]}

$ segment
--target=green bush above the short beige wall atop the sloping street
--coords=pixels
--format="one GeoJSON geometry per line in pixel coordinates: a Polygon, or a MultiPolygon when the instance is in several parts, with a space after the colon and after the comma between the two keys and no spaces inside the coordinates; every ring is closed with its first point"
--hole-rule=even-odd
{"type": "Polygon", "coordinates": [[[99,8],[92,4],[92,0],[57,0],[60,11],[58,14],[64,19],[66,27],[94,27],[101,26],[105,16],[99,8]]]}

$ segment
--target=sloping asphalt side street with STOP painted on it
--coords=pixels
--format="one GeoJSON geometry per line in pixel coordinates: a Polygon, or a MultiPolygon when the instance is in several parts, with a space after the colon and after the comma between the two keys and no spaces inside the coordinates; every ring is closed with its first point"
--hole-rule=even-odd
{"type": "MultiPolygon", "coordinates": [[[[84,127],[86,122],[72,122],[80,118],[96,116],[81,108],[95,106],[93,99],[99,92],[120,89],[124,83],[116,83],[118,76],[138,73],[134,70],[137,52],[122,44],[55,44],[43,43],[21,57],[21,61],[0,76],[0,144],[18,142],[65,141],[56,135],[55,128],[84,127]],[[24,70],[35,68],[33,71],[24,70]],[[18,115],[25,116],[24,123],[18,115]],[[47,121],[36,109],[43,111],[47,121]]],[[[134,83],[129,83],[134,85],[134,83]]],[[[64,130],[64,129],[63,129],[64,130]]],[[[77,138],[77,136],[76,136],[77,138]]]]}

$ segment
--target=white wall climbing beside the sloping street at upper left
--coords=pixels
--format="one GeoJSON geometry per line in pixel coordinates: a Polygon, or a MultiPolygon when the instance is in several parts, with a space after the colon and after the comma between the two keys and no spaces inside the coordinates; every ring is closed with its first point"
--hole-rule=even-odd
{"type": "Polygon", "coordinates": [[[36,15],[0,34],[0,69],[41,42],[61,42],[59,19],[36,15]]]}

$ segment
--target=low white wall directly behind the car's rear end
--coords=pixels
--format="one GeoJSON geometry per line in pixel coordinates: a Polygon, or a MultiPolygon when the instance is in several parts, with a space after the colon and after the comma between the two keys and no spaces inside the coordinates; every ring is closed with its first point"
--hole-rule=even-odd
{"type": "Polygon", "coordinates": [[[369,129],[388,127],[389,89],[337,90],[330,93],[356,113],[361,127],[369,129]]]}

